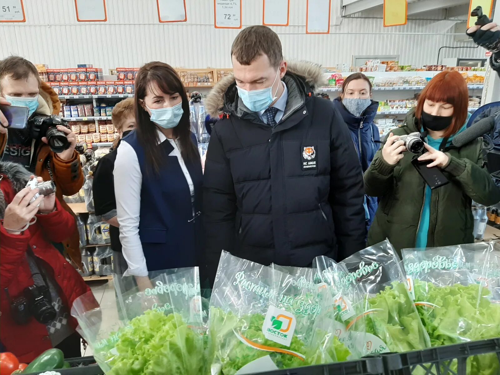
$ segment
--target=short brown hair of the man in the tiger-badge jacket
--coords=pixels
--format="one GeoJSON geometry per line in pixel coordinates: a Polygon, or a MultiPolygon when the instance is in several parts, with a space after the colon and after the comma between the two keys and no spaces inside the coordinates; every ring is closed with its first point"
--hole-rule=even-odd
{"type": "Polygon", "coordinates": [[[257,57],[265,54],[271,66],[278,67],[283,61],[281,42],[278,35],[266,26],[249,26],[241,30],[231,46],[231,57],[242,65],[251,64],[257,57]]]}

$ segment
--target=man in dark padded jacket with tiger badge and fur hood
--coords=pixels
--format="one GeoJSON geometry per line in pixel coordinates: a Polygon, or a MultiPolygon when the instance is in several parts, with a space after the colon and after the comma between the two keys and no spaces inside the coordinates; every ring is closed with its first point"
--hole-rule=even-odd
{"type": "Polygon", "coordinates": [[[243,29],[234,76],[205,100],[215,124],[206,153],[203,214],[208,274],[221,250],[261,264],[309,266],[364,247],[361,166],[349,130],[314,96],[317,65],[283,60],[278,36],[243,29]]]}

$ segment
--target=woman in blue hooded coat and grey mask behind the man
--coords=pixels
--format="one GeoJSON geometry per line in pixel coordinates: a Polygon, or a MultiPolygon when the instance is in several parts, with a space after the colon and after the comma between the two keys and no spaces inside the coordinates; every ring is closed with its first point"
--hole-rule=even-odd
{"type": "MultiPolygon", "coordinates": [[[[371,100],[371,82],[363,73],[353,73],[344,79],[342,93],[333,100],[350,130],[363,173],[378,149],[380,134],[373,119],[378,101],[371,100]]],[[[377,198],[365,195],[366,229],[375,217],[377,198]]]]}

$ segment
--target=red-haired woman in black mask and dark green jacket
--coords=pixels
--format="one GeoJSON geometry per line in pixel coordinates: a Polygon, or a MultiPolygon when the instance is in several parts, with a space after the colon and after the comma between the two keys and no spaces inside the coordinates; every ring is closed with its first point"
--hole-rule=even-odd
{"type": "Polygon", "coordinates": [[[500,190],[483,168],[482,138],[461,147],[451,143],[466,128],[467,105],[465,79],[456,71],[443,71],[422,90],[403,125],[387,136],[364,173],[366,194],[380,200],[369,245],[385,238],[397,250],[474,241],[471,201],[497,203],[500,190]],[[406,152],[399,139],[413,132],[426,141],[418,154],[406,152]],[[449,183],[431,190],[412,165],[413,158],[440,168],[449,183]]]}

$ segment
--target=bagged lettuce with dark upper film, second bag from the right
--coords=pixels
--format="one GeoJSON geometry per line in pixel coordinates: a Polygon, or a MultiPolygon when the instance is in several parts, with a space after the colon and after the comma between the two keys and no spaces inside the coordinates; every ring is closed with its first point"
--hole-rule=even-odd
{"type": "Polygon", "coordinates": [[[388,240],[345,258],[342,283],[357,284],[364,294],[362,312],[370,353],[420,350],[430,346],[404,272],[388,240]]]}

